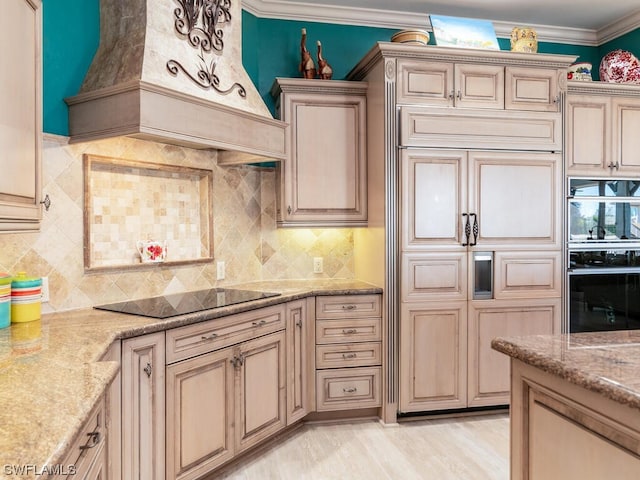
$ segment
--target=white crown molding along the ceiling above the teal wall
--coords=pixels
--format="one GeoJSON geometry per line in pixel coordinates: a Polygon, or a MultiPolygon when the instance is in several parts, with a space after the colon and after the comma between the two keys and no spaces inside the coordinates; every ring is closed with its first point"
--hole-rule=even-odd
{"type": "MultiPolygon", "coordinates": [[[[327,5],[322,4],[298,3],[287,0],[243,0],[242,8],[260,18],[389,29],[421,28],[431,31],[428,14],[353,8],[340,5],[332,5],[329,8],[327,5]]],[[[509,38],[511,30],[517,25],[517,22],[494,21],[493,25],[498,37],[509,38]]],[[[550,25],[527,26],[536,30],[538,41],[541,42],[597,47],[636,28],[640,28],[640,10],[636,14],[626,16],[600,30],[550,25]]]]}

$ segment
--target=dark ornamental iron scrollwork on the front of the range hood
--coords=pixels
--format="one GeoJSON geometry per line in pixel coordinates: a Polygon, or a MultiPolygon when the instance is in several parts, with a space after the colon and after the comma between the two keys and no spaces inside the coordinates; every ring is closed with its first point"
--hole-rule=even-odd
{"type": "Polygon", "coordinates": [[[218,93],[227,95],[237,90],[238,95],[246,98],[245,88],[235,82],[227,89],[220,88],[220,78],[216,74],[215,55],[222,54],[224,48],[224,24],[231,21],[231,0],[176,0],[178,7],[173,11],[175,29],[189,44],[199,49],[199,70],[192,75],[177,60],[167,62],[167,70],[172,75],[182,72],[202,88],[213,88],[218,93]],[[211,57],[210,60],[207,60],[211,57]]]}

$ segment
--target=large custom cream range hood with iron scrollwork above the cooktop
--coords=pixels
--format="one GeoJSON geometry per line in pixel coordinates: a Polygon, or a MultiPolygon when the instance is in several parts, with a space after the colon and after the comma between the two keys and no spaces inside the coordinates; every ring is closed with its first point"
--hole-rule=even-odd
{"type": "Polygon", "coordinates": [[[101,0],[100,46],[69,106],[70,142],[131,136],[220,150],[218,163],[285,156],[242,65],[239,0],[101,0]]]}

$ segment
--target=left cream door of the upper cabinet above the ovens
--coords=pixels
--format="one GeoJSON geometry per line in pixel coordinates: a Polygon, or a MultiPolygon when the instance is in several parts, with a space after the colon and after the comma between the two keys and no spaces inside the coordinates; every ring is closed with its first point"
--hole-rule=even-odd
{"type": "Polygon", "coordinates": [[[602,175],[605,164],[611,161],[609,99],[569,95],[566,110],[567,170],[602,175]]]}

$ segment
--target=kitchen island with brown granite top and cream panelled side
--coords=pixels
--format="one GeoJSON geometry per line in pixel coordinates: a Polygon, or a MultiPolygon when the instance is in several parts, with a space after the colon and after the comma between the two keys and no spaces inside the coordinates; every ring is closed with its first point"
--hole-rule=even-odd
{"type": "Polygon", "coordinates": [[[511,357],[511,479],[640,478],[640,331],[496,338],[511,357]]]}

